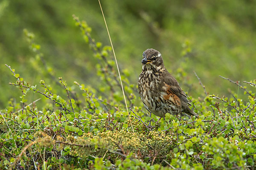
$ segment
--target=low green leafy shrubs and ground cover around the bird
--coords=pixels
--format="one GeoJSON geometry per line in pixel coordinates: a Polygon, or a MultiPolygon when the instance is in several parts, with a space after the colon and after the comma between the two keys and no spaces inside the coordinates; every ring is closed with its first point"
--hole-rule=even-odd
{"type": "MultiPolygon", "coordinates": [[[[199,117],[167,113],[156,122],[138,99],[130,72],[122,69],[130,122],[111,47],[96,42],[86,22],[73,19],[98,61],[99,88],[56,77],[35,35],[25,29],[35,68],[51,81],[30,84],[6,63],[9,84],[19,89],[20,99],[11,99],[1,111],[0,169],[254,169],[256,99],[247,87],[255,88],[256,80],[220,77],[237,87],[230,91],[232,97],[225,97],[208,94],[195,74],[204,97],[188,98],[199,117]],[[35,96],[32,102],[29,95],[35,96]]],[[[181,70],[177,76],[183,79],[185,74],[181,70]]]]}

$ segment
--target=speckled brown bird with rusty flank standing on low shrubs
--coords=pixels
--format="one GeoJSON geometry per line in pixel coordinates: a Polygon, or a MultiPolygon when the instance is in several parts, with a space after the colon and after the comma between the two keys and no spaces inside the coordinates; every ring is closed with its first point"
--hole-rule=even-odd
{"type": "MultiPolygon", "coordinates": [[[[177,80],[170,74],[159,51],[149,48],[143,52],[142,72],[138,80],[140,98],[145,108],[160,118],[166,113],[178,115],[183,112],[189,116],[198,114],[192,111],[185,92],[177,80]]],[[[158,122],[157,121],[157,122],[158,122]]]]}

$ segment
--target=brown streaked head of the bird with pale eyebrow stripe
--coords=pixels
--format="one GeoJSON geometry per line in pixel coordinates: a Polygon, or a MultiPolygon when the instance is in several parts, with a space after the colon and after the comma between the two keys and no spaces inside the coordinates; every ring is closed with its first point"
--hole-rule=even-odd
{"type": "Polygon", "coordinates": [[[153,48],[147,49],[142,54],[143,59],[141,60],[141,63],[143,64],[143,67],[146,68],[163,68],[163,58],[159,51],[154,50],[153,48]]]}

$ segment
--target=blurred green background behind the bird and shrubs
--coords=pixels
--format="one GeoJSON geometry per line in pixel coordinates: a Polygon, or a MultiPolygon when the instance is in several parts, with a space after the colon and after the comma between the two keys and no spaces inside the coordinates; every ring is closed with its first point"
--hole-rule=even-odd
{"type": "MultiPolygon", "coordinates": [[[[160,51],[166,68],[180,81],[184,91],[202,97],[196,71],[209,94],[229,95],[235,81],[256,79],[256,0],[101,0],[121,69],[137,84],[142,53],[160,51]],[[180,76],[182,75],[182,76],[180,76]]],[[[98,0],[1,0],[0,1],[0,108],[10,98],[19,100],[20,91],[9,68],[32,85],[40,79],[55,83],[42,74],[35,53],[23,34],[35,34],[44,59],[56,80],[74,81],[97,87],[97,60],[72,14],[92,28],[96,42],[110,45],[98,0]]],[[[250,89],[250,88],[249,88],[250,89]]],[[[242,93],[242,90],[240,90],[242,93]]],[[[30,101],[35,96],[29,96],[30,101]]]]}

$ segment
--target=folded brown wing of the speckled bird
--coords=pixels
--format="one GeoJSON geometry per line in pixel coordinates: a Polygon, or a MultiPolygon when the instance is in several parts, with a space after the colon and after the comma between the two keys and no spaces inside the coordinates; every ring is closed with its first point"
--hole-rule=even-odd
{"type": "Polygon", "coordinates": [[[173,94],[176,94],[181,100],[186,102],[188,105],[191,105],[186,97],[185,92],[180,88],[177,80],[174,77],[172,77],[172,75],[168,71],[166,71],[166,74],[163,77],[163,85],[165,86],[167,91],[171,91],[173,94]]]}

